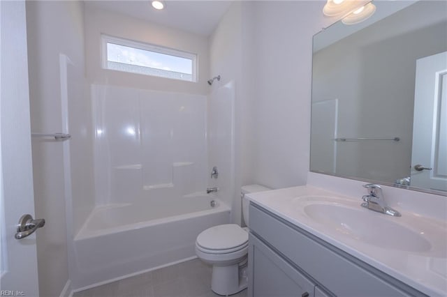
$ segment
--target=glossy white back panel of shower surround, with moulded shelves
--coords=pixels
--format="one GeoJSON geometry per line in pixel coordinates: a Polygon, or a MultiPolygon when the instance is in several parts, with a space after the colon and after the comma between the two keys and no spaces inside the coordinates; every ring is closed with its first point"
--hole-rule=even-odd
{"type": "Polygon", "coordinates": [[[91,86],[96,205],[207,187],[207,97],[91,86]]]}

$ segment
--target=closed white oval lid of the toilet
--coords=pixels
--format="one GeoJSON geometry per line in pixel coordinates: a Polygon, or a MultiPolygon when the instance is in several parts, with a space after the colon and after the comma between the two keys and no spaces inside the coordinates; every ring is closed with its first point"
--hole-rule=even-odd
{"type": "Polygon", "coordinates": [[[249,234],[237,224],[220,224],[198,234],[196,243],[207,250],[229,250],[246,245],[249,234]]]}

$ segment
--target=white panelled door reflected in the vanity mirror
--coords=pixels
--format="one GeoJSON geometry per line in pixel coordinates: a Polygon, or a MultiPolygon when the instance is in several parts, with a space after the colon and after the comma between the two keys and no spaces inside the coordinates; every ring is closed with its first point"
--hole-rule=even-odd
{"type": "Polygon", "coordinates": [[[447,52],[416,61],[411,185],[447,191],[447,52]]]}

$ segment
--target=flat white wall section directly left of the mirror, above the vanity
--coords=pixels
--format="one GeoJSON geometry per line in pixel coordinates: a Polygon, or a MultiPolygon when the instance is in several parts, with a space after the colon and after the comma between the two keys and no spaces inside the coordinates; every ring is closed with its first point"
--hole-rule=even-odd
{"type": "Polygon", "coordinates": [[[303,185],[309,171],[312,36],[332,20],[325,1],[254,5],[253,181],[303,185]]]}

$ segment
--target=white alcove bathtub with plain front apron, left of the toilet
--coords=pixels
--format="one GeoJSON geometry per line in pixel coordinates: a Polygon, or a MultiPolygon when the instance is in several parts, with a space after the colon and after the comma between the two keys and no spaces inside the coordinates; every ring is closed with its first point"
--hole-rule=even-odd
{"type": "Polygon", "coordinates": [[[229,221],[230,208],[214,195],[97,206],[73,241],[73,289],[193,259],[198,234],[229,221]]]}

